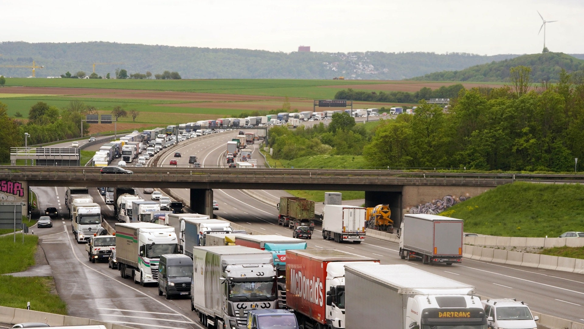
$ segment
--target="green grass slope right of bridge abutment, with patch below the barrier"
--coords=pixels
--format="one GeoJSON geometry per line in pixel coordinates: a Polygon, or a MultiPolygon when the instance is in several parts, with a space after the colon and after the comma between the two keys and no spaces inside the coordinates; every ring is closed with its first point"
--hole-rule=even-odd
{"type": "MultiPolygon", "coordinates": [[[[584,231],[584,186],[517,182],[496,187],[441,213],[464,220],[464,231],[501,237],[550,237],[584,231]]],[[[584,247],[540,253],[584,258],[584,247]]]]}

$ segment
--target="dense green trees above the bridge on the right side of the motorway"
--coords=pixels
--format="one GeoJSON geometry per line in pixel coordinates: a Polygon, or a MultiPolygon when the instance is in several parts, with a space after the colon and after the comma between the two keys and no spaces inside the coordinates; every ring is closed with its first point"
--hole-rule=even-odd
{"type": "Polygon", "coordinates": [[[372,167],[573,171],[584,158],[584,70],[538,87],[530,71],[512,68],[501,88],[460,90],[447,112],[422,101],[414,115],[382,120],[373,135],[335,114],[328,129],[274,127],[270,143],[281,159],[362,154],[372,167]]]}

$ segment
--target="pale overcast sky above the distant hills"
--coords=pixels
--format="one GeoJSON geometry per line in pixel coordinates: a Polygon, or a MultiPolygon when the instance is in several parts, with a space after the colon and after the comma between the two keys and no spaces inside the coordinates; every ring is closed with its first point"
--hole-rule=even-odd
{"type": "Polygon", "coordinates": [[[584,53],[582,0],[0,0],[0,41],[294,52],[584,53]]]}

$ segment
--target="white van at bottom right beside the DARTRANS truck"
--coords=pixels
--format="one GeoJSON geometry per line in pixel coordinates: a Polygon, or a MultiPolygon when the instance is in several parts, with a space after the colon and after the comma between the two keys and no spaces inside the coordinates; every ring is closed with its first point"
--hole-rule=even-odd
{"type": "Polygon", "coordinates": [[[510,298],[481,300],[485,309],[486,324],[493,329],[537,328],[539,317],[531,315],[523,301],[510,298]]]}

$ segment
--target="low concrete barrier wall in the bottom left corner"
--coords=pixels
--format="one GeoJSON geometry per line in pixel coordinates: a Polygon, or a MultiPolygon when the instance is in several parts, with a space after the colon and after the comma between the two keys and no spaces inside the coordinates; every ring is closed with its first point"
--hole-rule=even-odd
{"type": "Polygon", "coordinates": [[[90,318],[70,317],[61,314],[46,313],[34,310],[15,309],[14,307],[0,306],[0,322],[2,323],[23,323],[23,322],[43,322],[55,327],[58,325],[88,325],[103,324],[107,329],[134,329],[126,325],[114,324],[90,318]]]}

